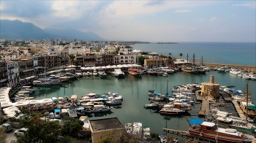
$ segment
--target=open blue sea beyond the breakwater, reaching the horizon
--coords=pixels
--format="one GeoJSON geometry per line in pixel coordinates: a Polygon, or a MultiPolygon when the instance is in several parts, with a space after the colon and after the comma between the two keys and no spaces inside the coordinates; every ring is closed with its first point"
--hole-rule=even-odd
{"type": "Polygon", "coordinates": [[[255,42],[178,42],[178,44],[136,44],[131,45],[135,50],[156,52],[159,55],[172,53],[172,57],[195,62],[222,63],[245,66],[256,66],[255,42]],[[180,57],[179,54],[183,56],[180,57]]]}

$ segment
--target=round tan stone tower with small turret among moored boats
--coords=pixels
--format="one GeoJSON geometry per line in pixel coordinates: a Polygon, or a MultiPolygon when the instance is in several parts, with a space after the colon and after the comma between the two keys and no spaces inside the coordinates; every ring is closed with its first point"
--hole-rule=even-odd
{"type": "Polygon", "coordinates": [[[219,97],[219,83],[214,82],[213,75],[210,82],[202,83],[201,96],[219,97]]]}

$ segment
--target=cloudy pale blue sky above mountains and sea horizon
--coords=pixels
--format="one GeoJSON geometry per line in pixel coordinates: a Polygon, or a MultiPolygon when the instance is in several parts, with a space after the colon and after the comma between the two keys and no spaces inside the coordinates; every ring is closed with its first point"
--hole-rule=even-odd
{"type": "Polygon", "coordinates": [[[255,42],[255,1],[1,0],[1,20],[92,31],[110,41],[255,42]]]}

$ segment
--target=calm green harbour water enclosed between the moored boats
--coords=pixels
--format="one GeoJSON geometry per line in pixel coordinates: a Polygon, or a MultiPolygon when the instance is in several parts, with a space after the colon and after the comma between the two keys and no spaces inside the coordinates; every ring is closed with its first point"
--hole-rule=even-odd
{"type": "MultiPolygon", "coordinates": [[[[252,93],[252,101],[256,103],[255,80],[245,80],[230,73],[219,73],[217,71],[208,71],[206,74],[189,74],[183,71],[176,74],[169,74],[168,77],[142,75],[141,77],[132,77],[126,75],[124,79],[108,76],[105,79],[99,77],[83,77],[79,80],[63,83],[63,86],[52,86],[39,88],[34,93],[36,99],[64,97],[78,95],[78,97],[86,96],[87,93],[108,93],[118,92],[124,97],[121,107],[113,107],[111,112],[91,114],[89,120],[100,119],[105,117],[118,117],[121,123],[143,123],[143,126],[151,128],[151,132],[157,134],[165,134],[162,128],[171,128],[175,130],[187,131],[187,120],[198,117],[197,112],[200,104],[195,104],[192,110],[185,115],[165,116],[160,115],[159,111],[154,109],[145,109],[143,105],[149,104],[148,90],[156,90],[159,93],[171,94],[174,85],[185,85],[192,83],[209,82],[211,75],[214,75],[215,82],[222,85],[234,85],[237,90],[246,92],[246,84],[249,84],[250,93],[252,93]],[[167,87],[168,80],[168,87],[167,87]]],[[[176,137],[176,135],[171,135],[176,137]]]]}

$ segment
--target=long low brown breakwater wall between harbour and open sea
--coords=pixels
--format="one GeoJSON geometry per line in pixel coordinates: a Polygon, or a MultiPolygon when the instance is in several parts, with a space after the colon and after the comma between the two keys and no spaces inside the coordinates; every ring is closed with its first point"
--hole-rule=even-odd
{"type": "MultiPolygon", "coordinates": [[[[202,63],[195,63],[196,65],[201,65],[202,63]]],[[[219,64],[219,63],[203,63],[204,66],[208,66],[211,69],[219,68],[221,66],[227,66],[228,68],[244,70],[246,72],[256,73],[256,66],[243,66],[243,65],[231,65],[231,64],[219,64]]]]}

